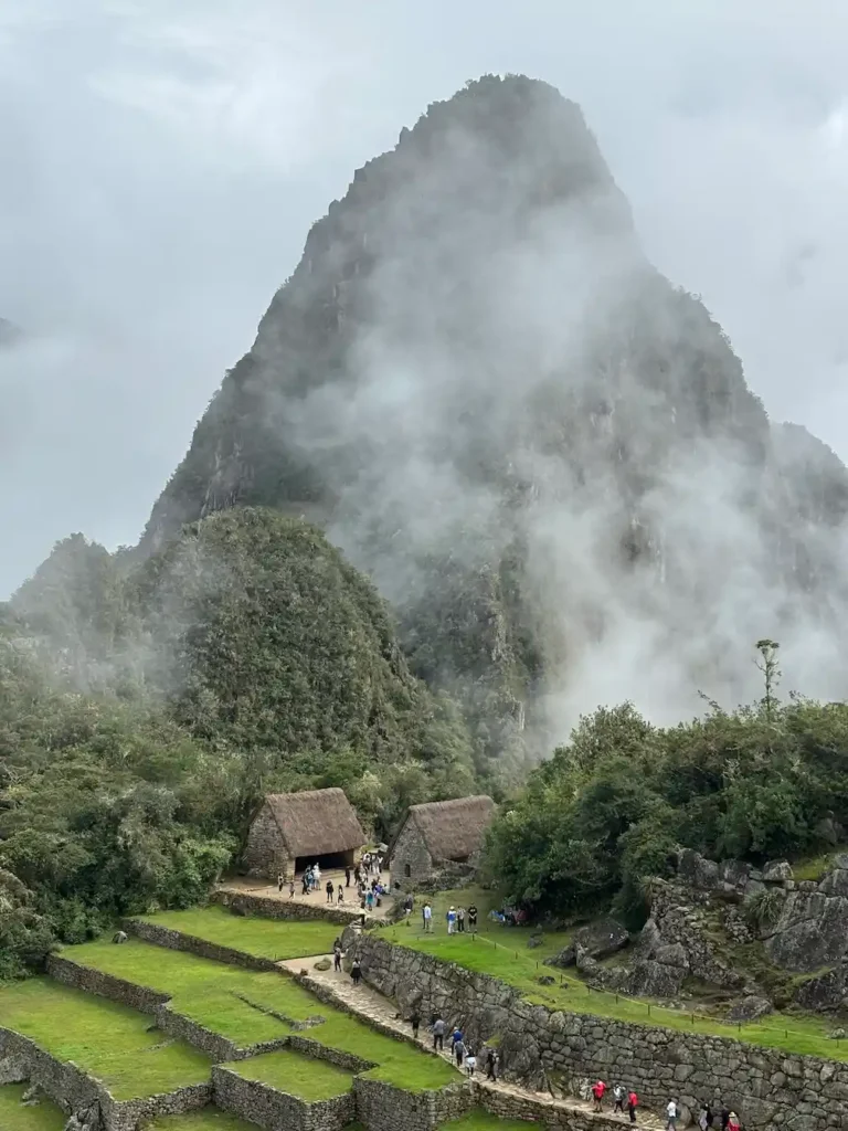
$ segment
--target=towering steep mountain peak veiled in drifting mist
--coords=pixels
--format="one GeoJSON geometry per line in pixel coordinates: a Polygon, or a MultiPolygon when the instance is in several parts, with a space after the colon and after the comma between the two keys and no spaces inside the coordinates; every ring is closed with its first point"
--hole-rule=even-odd
{"type": "Polygon", "coordinates": [[[735,702],[762,636],[837,692],[848,476],[821,447],[646,261],[579,109],[485,78],[313,226],[142,546],[242,503],[319,521],[481,749],[522,751],[600,700],[735,702]]]}

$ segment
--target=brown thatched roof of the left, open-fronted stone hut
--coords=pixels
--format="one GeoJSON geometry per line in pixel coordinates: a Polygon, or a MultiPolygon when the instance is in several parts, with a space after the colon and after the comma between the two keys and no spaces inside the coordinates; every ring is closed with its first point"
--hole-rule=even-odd
{"type": "Polygon", "coordinates": [[[269,793],[265,803],[289,856],[325,856],[365,844],[365,834],[344,789],[269,793]]]}

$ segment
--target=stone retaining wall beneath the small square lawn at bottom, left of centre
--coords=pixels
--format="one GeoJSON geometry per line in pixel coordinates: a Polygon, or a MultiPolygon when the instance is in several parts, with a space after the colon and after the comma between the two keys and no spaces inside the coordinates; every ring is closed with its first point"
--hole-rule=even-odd
{"type": "Polygon", "coordinates": [[[353,1091],[310,1104],[226,1068],[213,1069],[213,1087],[218,1107],[267,1131],[341,1131],[355,1117],[353,1091]]]}

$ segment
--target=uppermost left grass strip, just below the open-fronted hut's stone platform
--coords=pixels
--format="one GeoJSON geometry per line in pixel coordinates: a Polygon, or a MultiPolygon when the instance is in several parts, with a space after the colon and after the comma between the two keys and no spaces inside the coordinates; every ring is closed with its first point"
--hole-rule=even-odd
{"type": "Polygon", "coordinates": [[[139,917],[146,923],[167,926],[172,931],[192,934],[196,939],[274,961],[329,955],[334,940],[341,934],[337,923],[233,915],[217,904],[189,912],[159,912],[139,917]]]}

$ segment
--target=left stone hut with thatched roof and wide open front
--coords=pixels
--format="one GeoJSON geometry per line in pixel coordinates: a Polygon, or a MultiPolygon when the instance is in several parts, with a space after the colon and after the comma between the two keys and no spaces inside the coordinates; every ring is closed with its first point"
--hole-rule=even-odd
{"type": "Polygon", "coordinates": [[[268,794],[251,822],[245,862],[252,874],[291,875],[305,862],[353,864],[365,844],[344,789],[268,794]]]}

